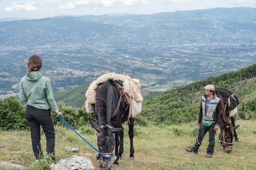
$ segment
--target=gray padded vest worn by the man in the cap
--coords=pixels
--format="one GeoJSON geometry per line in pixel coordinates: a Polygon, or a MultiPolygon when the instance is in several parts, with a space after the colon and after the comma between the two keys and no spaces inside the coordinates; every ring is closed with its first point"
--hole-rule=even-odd
{"type": "Polygon", "coordinates": [[[210,102],[208,111],[207,111],[207,113],[205,113],[206,98],[205,98],[204,95],[202,96],[202,113],[203,113],[203,119],[204,119],[204,120],[211,120],[211,121],[213,121],[214,112],[215,112],[215,110],[216,110],[216,108],[217,108],[217,105],[218,105],[218,102],[219,102],[220,100],[221,100],[221,99],[219,99],[219,98],[214,94],[214,97],[211,99],[211,102],[210,102]]]}

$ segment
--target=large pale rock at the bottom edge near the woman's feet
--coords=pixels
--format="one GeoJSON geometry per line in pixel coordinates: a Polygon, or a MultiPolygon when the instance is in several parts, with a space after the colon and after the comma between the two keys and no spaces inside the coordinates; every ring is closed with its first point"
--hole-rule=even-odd
{"type": "Polygon", "coordinates": [[[73,155],[50,165],[51,170],[94,170],[93,163],[84,156],[73,155]]]}

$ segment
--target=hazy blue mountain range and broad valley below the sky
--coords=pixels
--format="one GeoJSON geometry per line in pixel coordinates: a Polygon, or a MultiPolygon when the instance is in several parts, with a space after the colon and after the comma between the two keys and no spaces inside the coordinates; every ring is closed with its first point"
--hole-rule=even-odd
{"type": "Polygon", "coordinates": [[[165,91],[256,63],[256,8],[0,20],[0,94],[17,93],[28,57],[55,91],[107,72],[165,91]]]}

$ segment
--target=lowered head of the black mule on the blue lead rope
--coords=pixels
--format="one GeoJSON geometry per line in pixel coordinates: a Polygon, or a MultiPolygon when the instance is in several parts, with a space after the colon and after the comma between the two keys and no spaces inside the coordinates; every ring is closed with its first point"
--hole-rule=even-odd
{"type": "MultiPolygon", "coordinates": [[[[114,133],[122,130],[121,128],[111,127],[110,125],[102,125],[99,127],[93,119],[90,119],[90,123],[93,128],[98,132],[97,135],[97,146],[99,151],[102,152],[105,156],[111,156],[115,147],[115,136],[114,133]]],[[[114,153],[113,153],[114,154],[114,153]]],[[[101,167],[110,169],[111,168],[111,159],[99,156],[101,167]]]]}

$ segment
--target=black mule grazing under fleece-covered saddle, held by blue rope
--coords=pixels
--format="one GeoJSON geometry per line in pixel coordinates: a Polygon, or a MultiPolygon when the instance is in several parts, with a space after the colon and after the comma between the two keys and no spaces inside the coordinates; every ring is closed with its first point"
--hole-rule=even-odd
{"type": "MultiPolygon", "coordinates": [[[[90,123],[98,132],[97,146],[104,155],[110,156],[115,153],[116,156],[113,165],[111,159],[98,156],[100,168],[110,170],[112,166],[119,166],[118,160],[123,153],[124,131],[122,123],[128,120],[129,114],[129,105],[124,99],[123,91],[117,87],[116,82],[108,80],[99,85],[96,92],[95,110],[98,125],[92,119],[90,119],[90,123]]],[[[134,118],[129,119],[129,137],[130,159],[134,159],[134,118]]]]}

